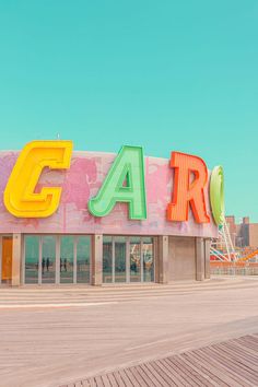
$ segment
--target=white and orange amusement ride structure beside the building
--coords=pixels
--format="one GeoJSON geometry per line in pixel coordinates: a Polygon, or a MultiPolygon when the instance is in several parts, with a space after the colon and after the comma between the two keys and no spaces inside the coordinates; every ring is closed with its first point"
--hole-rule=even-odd
{"type": "Polygon", "coordinates": [[[228,230],[226,221],[219,227],[219,238],[212,239],[210,249],[210,260],[221,262],[244,263],[258,257],[258,249],[246,251],[236,250],[228,230]]]}

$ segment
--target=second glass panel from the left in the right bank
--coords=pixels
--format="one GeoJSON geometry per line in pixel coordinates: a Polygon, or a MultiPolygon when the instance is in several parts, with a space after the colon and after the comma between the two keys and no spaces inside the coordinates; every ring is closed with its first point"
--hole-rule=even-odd
{"type": "Polygon", "coordinates": [[[116,236],[115,241],[115,282],[126,282],[126,251],[127,244],[124,236],[116,236]]]}

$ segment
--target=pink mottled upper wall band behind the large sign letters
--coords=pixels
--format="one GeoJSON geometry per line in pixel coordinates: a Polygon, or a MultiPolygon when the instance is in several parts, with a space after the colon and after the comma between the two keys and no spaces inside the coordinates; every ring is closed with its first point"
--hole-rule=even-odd
{"type": "Polygon", "coordinates": [[[168,160],[145,157],[148,219],[128,220],[128,206],[117,203],[109,215],[94,218],[87,201],[96,195],[116,156],[110,153],[73,152],[71,167],[66,172],[44,171],[37,189],[62,186],[58,211],[47,219],[16,219],[3,204],[3,191],[19,152],[0,152],[0,233],[89,233],[216,236],[218,230],[207,203],[210,224],[197,224],[190,211],[188,222],[167,222],[166,207],[172,197],[173,171],[168,160]]]}

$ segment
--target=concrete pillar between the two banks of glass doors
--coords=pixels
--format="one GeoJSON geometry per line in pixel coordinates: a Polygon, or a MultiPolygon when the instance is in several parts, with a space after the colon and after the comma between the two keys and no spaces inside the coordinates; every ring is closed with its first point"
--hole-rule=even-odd
{"type": "Polygon", "coordinates": [[[92,284],[102,285],[103,235],[92,236],[92,284]]]}

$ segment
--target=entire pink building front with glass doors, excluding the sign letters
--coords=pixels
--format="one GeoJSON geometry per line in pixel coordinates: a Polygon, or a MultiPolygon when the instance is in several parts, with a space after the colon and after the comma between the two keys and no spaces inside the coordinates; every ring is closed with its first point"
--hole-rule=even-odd
{"type": "Polygon", "coordinates": [[[44,169],[36,191],[60,186],[58,210],[45,219],[17,219],[4,207],[3,192],[19,152],[0,152],[1,284],[47,285],[167,283],[209,278],[210,223],[189,211],[187,222],[166,220],[174,173],[168,160],[144,159],[146,220],[129,220],[128,204],[117,203],[103,218],[93,216],[89,200],[98,192],[116,154],[73,152],[67,171],[44,169]]]}

